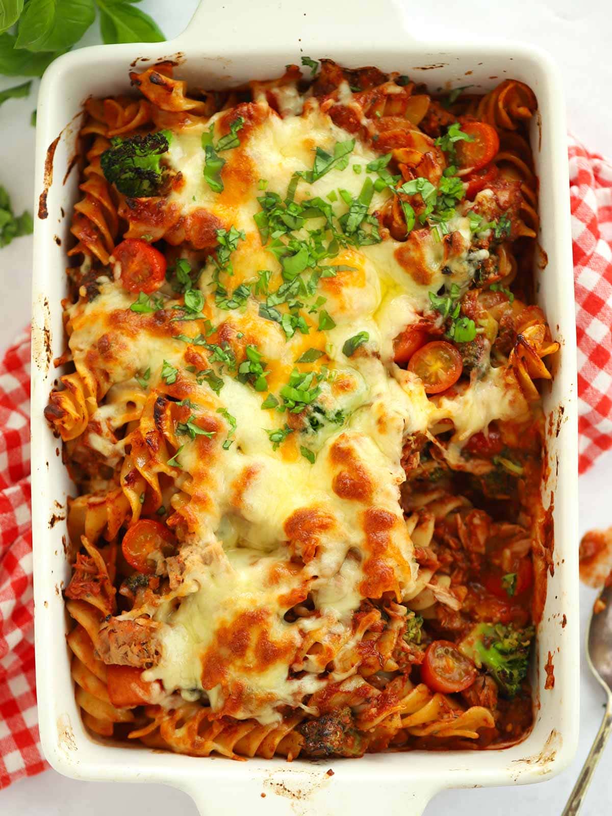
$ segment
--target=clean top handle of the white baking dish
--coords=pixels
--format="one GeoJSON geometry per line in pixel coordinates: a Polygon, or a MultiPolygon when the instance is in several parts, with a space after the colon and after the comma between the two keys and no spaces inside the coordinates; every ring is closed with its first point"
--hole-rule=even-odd
{"type": "Polygon", "coordinates": [[[201,49],[205,44],[211,56],[215,42],[232,42],[241,51],[259,53],[262,42],[270,53],[295,43],[297,53],[326,55],[330,44],[338,51],[358,42],[376,42],[386,36],[385,31],[402,31],[410,40],[400,0],[376,0],[375,8],[373,20],[371,0],[201,0],[178,39],[185,48],[201,49]]]}

